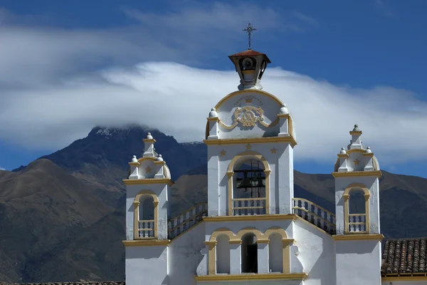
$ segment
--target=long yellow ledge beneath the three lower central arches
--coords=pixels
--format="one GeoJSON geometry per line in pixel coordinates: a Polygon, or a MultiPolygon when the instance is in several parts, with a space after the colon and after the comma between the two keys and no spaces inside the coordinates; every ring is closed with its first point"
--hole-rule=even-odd
{"type": "Polygon", "coordinates": [[[221,274],[194,276],[198,282],[246,281],[246,280],[305,280],[307,273],[268,273],[268,274],[221,274]]]}

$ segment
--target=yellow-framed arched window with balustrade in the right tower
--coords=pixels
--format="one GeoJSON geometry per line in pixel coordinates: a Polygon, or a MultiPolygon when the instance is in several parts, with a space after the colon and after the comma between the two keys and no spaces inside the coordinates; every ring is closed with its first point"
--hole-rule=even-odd
{"type": "Polygon", "coordinates": [[[344,191],[345,233],[369,233],[369,190],[359,183],[344,191]]]}

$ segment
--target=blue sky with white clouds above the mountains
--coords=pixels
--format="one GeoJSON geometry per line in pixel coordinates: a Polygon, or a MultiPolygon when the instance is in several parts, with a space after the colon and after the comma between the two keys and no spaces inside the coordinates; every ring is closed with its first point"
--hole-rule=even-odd
{"type": "Polygon", "coordinates": [[[0,167],[95,125],[203,140],[237,90],[228,56],[251,22],[272,61],[263,88],[294,116],[296,170],[332,172],[357,123],[383,170],[427,177],[426,12],[424,0],[0,0],[0,167]]]}

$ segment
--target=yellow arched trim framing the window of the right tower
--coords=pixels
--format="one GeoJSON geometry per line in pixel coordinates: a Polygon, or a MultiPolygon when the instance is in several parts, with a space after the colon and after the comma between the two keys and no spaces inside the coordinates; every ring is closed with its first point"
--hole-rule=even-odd
{"type": "Polygon", "coordinates": [[[357,232],[350,232],[349,230],[349,198],[350,198],[350,191],[354,190],[355,188],[361,189],[364,192],[364,198],[365,198],[365,212],[364,213],[357,213],[357,214],[364,214],[365,215],[365,233],[369,234],[371,232],[371,223],[369,220],[369,197],[371,197],[371,193],[369,192],[369,189],[362,183],[352,183],[344,190],[344,194],[342,197],[344,198],[344,233],[345,234],[357,234],[357,232]]]}

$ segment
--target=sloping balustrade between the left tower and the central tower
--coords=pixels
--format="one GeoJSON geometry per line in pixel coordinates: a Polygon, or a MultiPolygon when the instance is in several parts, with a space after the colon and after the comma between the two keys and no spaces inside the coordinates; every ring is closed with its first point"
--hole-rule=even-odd
{"type": "Polygon", "coordinates": [[[190,227],[201,222],[203,217],[208,213],[208,203],[201,202],[196,204],[194,207],[182,212],[173,219],[169,219],[167,223],[168,238],[173,239],[179,236],[190,227]]]}

